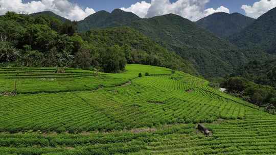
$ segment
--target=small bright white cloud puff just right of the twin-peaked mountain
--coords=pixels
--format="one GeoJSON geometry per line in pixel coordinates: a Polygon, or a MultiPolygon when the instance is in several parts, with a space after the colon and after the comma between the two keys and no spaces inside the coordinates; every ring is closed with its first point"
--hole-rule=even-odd
{"type": "Polygon", "coordinates": [[[121,8],[121,10],[132,12],[137,16],[144,18],[147,15],[150,6],[151,4],[142,1],[141,3],[137,2],[136,4],[131,5],[129,8],[121,8]]]}

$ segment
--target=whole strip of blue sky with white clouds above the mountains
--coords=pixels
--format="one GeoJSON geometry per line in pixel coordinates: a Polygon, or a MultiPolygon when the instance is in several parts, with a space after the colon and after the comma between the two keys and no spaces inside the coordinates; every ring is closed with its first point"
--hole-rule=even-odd
{"type": "Polygon", "coordinates": [[[2,0],[0,15],[7,11],[30,14],[52,11],[70,20],[82,20],[100,10],[122,9],[141,18],[177,14],[192,21],[216,12],[239,12],[258,18],[276,7],[276,0],[2,0]]]}

